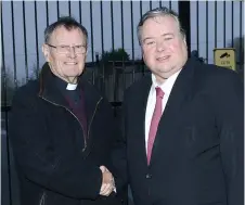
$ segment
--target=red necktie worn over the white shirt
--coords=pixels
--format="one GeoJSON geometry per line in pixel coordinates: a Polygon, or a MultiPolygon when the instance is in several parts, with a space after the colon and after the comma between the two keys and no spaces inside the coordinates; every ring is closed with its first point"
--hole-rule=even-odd
{"type": "Polygon", "coordinates": [[[151,121],[151,127],[149,131],[149,141],[147,141],[147,164],[150,164],[151,161],[151,155],[152,155],[152,148],[153,143],[156,137],[156,131],[158,127],[158,123],[160,120],[162,116],[162,100],[164,98],[164,91],[159,88],[156,87],[156,105],[155,110],[152,116],[152,121],[151,121]]]}

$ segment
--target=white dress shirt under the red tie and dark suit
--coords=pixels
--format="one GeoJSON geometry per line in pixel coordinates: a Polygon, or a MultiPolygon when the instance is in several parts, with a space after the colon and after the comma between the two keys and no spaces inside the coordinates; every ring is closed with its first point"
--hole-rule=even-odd
{"type": "MultiPolygon", "coordinates": [[[[180,69],[181,71],[181,69],[180,69]]],[[[175,73],[172,76],[170,76],[164,84],[158,85],[156,81],[156,77],[154,74],[152,74],[152,87],[149,93],[149,99],[147,99],[147,104],[146,104],[146,112],[145,112],[145,149],[147,152],[147,141],[149,141],[149,132],[150,132],[150,126],[151,126],[151,120],[152,120],[152,116],[153,116],[153,112],[155,108],[155,104],[156,104],[156,87],[160,87],[160,89],[164,91],[164,98],[162,101],[162,114],[165,110],[165,106],[168,102],[168,98],[170,95],[172,86],[179,75],[179,72],[175,73]]]]}

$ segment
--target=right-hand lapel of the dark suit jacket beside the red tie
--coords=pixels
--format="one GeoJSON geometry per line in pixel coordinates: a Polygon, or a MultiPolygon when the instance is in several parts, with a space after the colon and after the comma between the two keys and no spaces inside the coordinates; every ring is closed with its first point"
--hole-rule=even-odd
{"type": "Polygon", "coordinates": [[[193,87],[193,68],[194,64],[189,60],[176,79],[158,125],[150,166],[154,164],[154,158],[159,148],[163,151],[163,148],[168,145],[166,141],[167,137],[171,136],[172,131],[176,131],[175,125],[177,124],[178,117],[181,115],[181,108],[190,99],[191,89],[193,87]],[[167,144],[165,143],[163,145],[163,139],[165,139],[167,144]]]}

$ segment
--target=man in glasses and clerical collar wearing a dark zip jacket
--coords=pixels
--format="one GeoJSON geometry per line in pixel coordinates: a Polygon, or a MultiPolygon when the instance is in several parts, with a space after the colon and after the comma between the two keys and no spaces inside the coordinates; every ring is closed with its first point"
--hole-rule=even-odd
{"type": "Polygon", "coordinates": [[[112,107],[81,77],[87,29],[61,17],[46,28],[42,51],[47,63],[16,91],[10,117],[21,204],[122,204],[124,149],[112,107]]]}

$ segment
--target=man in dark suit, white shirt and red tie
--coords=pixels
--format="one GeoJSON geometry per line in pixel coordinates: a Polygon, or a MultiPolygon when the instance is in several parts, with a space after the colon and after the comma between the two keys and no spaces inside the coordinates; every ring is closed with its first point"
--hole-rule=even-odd
{"type": "Polygon", "coordinates": [[[138,26],[152,75],[125,93],[129,183],[136,205],[243,204],[243,85],[227,68],[188,60],[177,14],[138,26]]]}

